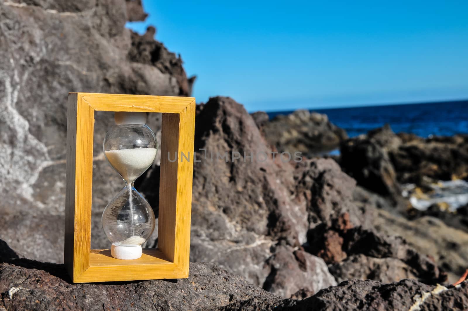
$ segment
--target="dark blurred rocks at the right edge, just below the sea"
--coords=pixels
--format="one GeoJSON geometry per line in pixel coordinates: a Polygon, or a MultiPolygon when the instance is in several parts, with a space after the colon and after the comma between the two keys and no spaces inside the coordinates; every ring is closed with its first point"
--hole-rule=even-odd
{"type": "Polygon", "coordinates": [[[386,125],[344,141],[340,152],[343,170],[384,196],[398,196],[399,184],[468,177],[468,135],[423,139],[386,125]]]}

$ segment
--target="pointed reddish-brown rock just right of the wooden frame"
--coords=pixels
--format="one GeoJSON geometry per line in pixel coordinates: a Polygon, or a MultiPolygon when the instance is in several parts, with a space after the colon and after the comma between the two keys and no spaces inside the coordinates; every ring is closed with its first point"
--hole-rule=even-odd
{"type": "Polygon", "coordinates": [[[305,242],[306,210],[290,196],[292,165],[272,158],[241,104],[228,97],[211,98],[197,116],[195,136],[200,161],[194,165],[195,215],[214,206],[222,218],[255,234],[282,238],[293,246],[305,242]],[[239,159],[233,159],[239,156],[236,152],[239,159]],[[252,159],[247,158],[250,154],[252,159]]]}

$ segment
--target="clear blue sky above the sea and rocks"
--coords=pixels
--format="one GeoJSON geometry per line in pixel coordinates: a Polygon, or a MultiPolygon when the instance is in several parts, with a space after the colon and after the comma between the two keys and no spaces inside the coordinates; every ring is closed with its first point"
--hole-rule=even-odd
{"type": "Polygon", "coordinates": [[[150,1],[127,27],[180,53],[193,96],[275,111],[468,98],[468,1],[150,1]]]}

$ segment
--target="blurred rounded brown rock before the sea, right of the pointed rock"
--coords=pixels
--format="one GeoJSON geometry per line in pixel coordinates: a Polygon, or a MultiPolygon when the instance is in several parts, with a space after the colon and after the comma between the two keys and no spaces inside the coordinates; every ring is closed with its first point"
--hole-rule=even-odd
{"type": "Polygon", "coordinates": [[[279,152],[293,155],[299,151],[308,158],[336,149],[348,138],[342,128],[329,122],[327,115],[308,110],[278,115],[262,129],[266,140],[279,152]]]}

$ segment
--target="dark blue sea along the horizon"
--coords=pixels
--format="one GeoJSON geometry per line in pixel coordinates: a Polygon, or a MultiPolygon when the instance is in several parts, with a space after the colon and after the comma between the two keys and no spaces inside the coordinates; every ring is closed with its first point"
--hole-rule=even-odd
{"type": "MultiPolygon", "coordinates": [[[[451,136],[468,133],[468,100],[426,104],[398,104],[353,108],[311,109],[328,115],[329,120],[344,128],[350,137],[388,123],[395,133],[414,133],[451,136]]],[[[268,116],[289,114],[292,111],[271,111],[268,116]]]]}

